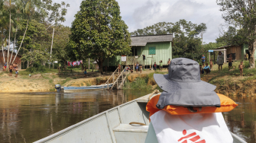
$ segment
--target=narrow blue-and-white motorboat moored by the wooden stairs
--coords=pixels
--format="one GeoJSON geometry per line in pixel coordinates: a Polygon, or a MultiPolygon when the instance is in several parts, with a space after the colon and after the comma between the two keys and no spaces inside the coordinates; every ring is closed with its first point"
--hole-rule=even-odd
{"type": "MultiPolygon", "coordinates": [[[[112,87],[113,84],[109,84],[109,87],[112,87]]],[[[92,85],[92,86],[83,86],[83,87],[63,87],[64,92],[70,91],[87,91],[87,90],[101,90],[108,88],[108,84],[101,84],[101,85],[92,85]]]]}

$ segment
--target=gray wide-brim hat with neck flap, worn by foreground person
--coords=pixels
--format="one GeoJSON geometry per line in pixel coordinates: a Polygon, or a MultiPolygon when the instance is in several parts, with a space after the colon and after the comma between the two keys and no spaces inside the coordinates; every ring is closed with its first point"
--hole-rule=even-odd
{"type": "Polygon", "coordinates": [[[164,91],[160,94],[157,108],[164,106],[217,106],[219,96],[215,85],[202,81],[199,63],[191,59],[172,59],[168,67],[169,74],[154,74],[154,81],[164,91]]]}

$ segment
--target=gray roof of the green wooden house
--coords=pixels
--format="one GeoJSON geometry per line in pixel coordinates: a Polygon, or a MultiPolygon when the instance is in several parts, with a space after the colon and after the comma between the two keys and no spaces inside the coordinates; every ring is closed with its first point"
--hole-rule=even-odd
{"type": "Polygon", "coordinates": [[[136,36],[131,37],[130,46],[146,46],[147,43],[157,43],[157,42],[172,42],[173,35],[149,35],[149,36],[136,36]]]}

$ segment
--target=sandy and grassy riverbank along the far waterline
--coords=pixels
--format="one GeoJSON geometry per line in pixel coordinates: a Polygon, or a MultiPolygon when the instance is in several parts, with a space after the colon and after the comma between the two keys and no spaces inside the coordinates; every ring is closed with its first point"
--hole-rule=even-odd
{"type": "MultiPolygon", "coordinates": [[[[256,68],[249,69],[248,62],[245,62],[244,77],[240,77],[238,65],[240,62],[233,62],[234,69],[228,70],[228,63],[223,65],[219,72],[218,65],[213,65],[209,75],[201,75],[203,81],[216,85],[215,91],[226,96],[254,97],[256,94],[256,68]]],[[[142,73],[132,73],[128,75],[125,87],[123,89],[154,90],[160,89],[154,81],[154,71],[146,70],[142,73]]],[[[167,74],[167,70],[157,72],[167,74]]],[[[24,71],[18,75],[18,78],[8,76],[8,72],[0,73],[0,92],[38,92],[55,91],[54,84],[62,86],[90,86],[104,84],[112,75],[112,72],[105,72],[100,75],[99,72],[88,72],[84,78],[82,72],[72,73],[36,73],[31,77],[24,71]]],[[[117,78],[117,77],[116,77],[117,78]]]]}

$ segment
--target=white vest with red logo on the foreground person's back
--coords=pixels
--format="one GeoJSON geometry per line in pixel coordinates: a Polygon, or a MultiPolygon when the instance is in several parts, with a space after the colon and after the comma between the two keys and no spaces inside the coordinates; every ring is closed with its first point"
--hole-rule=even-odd
{"type": "Polygon", "coordinates": [[[222,113],[170,115],[160,110],[151,122],[159,143],[233,143],[222,113]]]}

